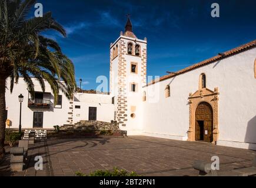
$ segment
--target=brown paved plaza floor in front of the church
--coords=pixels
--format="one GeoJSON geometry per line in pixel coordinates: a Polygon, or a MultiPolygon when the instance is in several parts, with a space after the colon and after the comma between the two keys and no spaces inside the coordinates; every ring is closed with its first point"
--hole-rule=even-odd
{"type": "Polygon", "coordinates": [[[208,143],[131,136],[47,140],[31,146],[29,156],[24,172],[14,176],[74,176],[75,172],[88,174],[113,167],[142,176],[197,176],[197,170],[192,169],[195,160],[210,162],[212,156],[219,156],[221,170],[231,170],[251,166],[256,152],[208,143]],[[38,155],[44,159],[44,170],[34,169],[34,158],[38,155]]]}

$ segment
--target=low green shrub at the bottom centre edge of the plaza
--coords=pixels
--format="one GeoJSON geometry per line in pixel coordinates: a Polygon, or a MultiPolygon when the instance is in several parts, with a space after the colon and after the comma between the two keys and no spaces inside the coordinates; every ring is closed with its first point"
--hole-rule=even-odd
{"type": "Polygon", "coordinates": [[[135,172],[128,173],[127,171],[125,171],[123,169],[119,170],[117,167],[114,167],[114,169],[112,171],[97,170],[93,173],[90,173],[89,175],[83,174],[81,172],[76,172],[75,175],[76,176],[107,176],[107,177],[111,177],[111,176],[138,176],[138,174],[135,173],[135,172]]]}

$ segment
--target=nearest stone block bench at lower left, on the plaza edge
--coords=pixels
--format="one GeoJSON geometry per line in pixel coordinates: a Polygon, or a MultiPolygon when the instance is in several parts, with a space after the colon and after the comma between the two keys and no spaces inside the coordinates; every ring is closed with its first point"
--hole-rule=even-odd
{"type": "Polygon", "coordinates": [[[12,147],[10,150],[10,167],[12,171],[21,172],[24,168],[24,148],[12,147]]]}

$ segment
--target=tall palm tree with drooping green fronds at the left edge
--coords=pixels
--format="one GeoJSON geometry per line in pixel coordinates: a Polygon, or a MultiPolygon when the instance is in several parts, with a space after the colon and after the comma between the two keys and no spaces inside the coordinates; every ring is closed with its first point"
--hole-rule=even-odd
{"type": "Polygon", "coordinates": [[[28,18],[35,0],[0,0],[0,157],[4,155],[5,90],[10,80],[12,93],[15,83],[22,77],[29,93],[34,95],[35,77],[45,91],[45,81],[51,85],[54,99],[59,90],[68,99],[77,87],[74,65],[65,56],[58,43],[42,35],[54,30],[66,36],[65,29],[47,12],[39,18],[28,18]]]}

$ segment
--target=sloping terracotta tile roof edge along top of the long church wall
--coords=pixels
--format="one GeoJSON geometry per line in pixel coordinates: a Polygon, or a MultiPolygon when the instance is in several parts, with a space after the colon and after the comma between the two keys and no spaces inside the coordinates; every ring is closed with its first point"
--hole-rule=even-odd
{"type": "Polygon", "coordinates": [[[157,82],[161,82],[163,80],[175,77],[177,75],[181,75],[182,73],[185,73],[185,72],[188,72],[190,70],[194,70],[194,69],[200,68],[201,66],[208,65],[208,64],[213,63],[215,61],[220,61],[221,59],[227,58],[227,57],[235,55],[237,53],[241,53],[241,52],[247,51],[247,50],[249,50],[251,48],[255,48],[255,47],[256,47],[256,40],[251,41],[249,43],[246,43],[245,45],[239,46],[237,48],[231,49],[230,51],[221,53],[221,54],[219,54],[217,56],[214,56],[212,58],[206,59],[205,61],[202,61],[202,62],[196,63],[194,65],[188,66],[185,69],[179,70],[175,74],[171,73],[169,75],[162,76],[159,80],[152,80],[152,82],[148,83],[148,85],[146,85],[146,86],[152,85],[152,84],[157,83],[157,82]]]}

